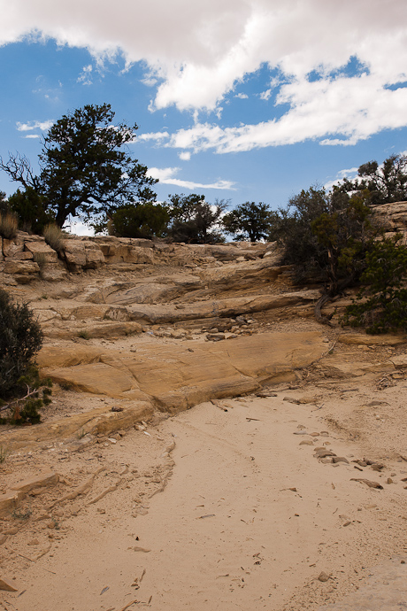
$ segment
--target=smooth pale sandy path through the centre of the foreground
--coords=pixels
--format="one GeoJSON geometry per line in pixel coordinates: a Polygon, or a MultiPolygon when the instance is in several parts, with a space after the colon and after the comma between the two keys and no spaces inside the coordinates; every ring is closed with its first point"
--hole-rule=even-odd
{"type": "Polygon", "coordinates": [[[227,412],[205,403],[151,437],[125,437],[110,457],[130,468],[168,460],[157,438],[176,442],[173,476],[143,501],[148,513],[134,519],[132,483],[121,486],[69,518],[52,555],[27,563],[24,595],[6,598],[18,611],[120,611],[132,601],[153,611],[316,611],[355,590],[403,551],[405,491],[386,488],[387,469],[359,474],[357,444],[328,430],[316,406],[283,397],[224,400],[227,412]],[[324,444],[349,464],[322,464],[313,450],[324,444]],[[350,481],[358,476],[385,489],[350,481]]]}

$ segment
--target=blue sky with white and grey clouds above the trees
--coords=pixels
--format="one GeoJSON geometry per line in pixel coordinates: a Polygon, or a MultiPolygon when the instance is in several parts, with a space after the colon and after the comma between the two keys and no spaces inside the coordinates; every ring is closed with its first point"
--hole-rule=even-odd
{"type": "Polygon", "coordinates": [[[158,201],[276,209],[407,149],[405,0],[0,0],[0,15],[0,155],[35,170],[42,135],[84,104],[137,124],[158,201]]]}

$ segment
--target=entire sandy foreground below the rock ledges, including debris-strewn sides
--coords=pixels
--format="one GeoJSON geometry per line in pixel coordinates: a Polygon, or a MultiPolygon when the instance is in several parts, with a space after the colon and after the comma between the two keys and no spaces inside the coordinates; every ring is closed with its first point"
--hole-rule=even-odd
{"type": "Polygon", "coordinates": [[[17,590],[2,607],[367,611],[376,588],[380,608],[403,608],[405,381],[378,391],[377,380],[204,403],[115,444],[42,452],[37,468],[53,463],[66,483],[42,514],[30,499],[33,516],[0,547],[17,590]],[[347,461],[324,462],[318,447],[347,461]],[[384,466],[352,462],[364,458],[384,466]],[[50,508],[98,468],[87,494],[50,508]]]}

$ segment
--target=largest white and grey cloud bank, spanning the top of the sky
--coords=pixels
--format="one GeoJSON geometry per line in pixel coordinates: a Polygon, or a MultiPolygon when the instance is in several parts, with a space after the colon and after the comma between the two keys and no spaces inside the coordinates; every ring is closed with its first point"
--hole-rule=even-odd
{"type": "Polygon", "coordinates": [[[108,0],[59,0],[52,11],[50,0],[0,0],[0,10],[0,44],[52,37],[87,48],[99,66],[117,54],[127,66],[142,61],[152,111],[174,105],[219,120],[234,87],[269,69],[270,86],[259,96],[270,120],[225,129],[197,122],[173,135],[173,146],[249,151],[310,138],[349,145],[407,125],[402,0],[117,0],[114,11],[108,0]]]}

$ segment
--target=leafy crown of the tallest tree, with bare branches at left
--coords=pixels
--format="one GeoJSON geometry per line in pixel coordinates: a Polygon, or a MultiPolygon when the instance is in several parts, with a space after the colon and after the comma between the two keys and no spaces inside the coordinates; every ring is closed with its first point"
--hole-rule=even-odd
{"type": "Polygon", "coordinates": [[[153,201],[151,187],[157,180],[126,151],[137,126],[113,125],[113,119],[110,104],[86,104],[64,115],[45,135],[38,176],[18,153],[6,162],[0,159],[0,169],[43,197],[44,209],[55,215],[58,227],[68,216],[89,220],[128,201],[153,201]]]}

